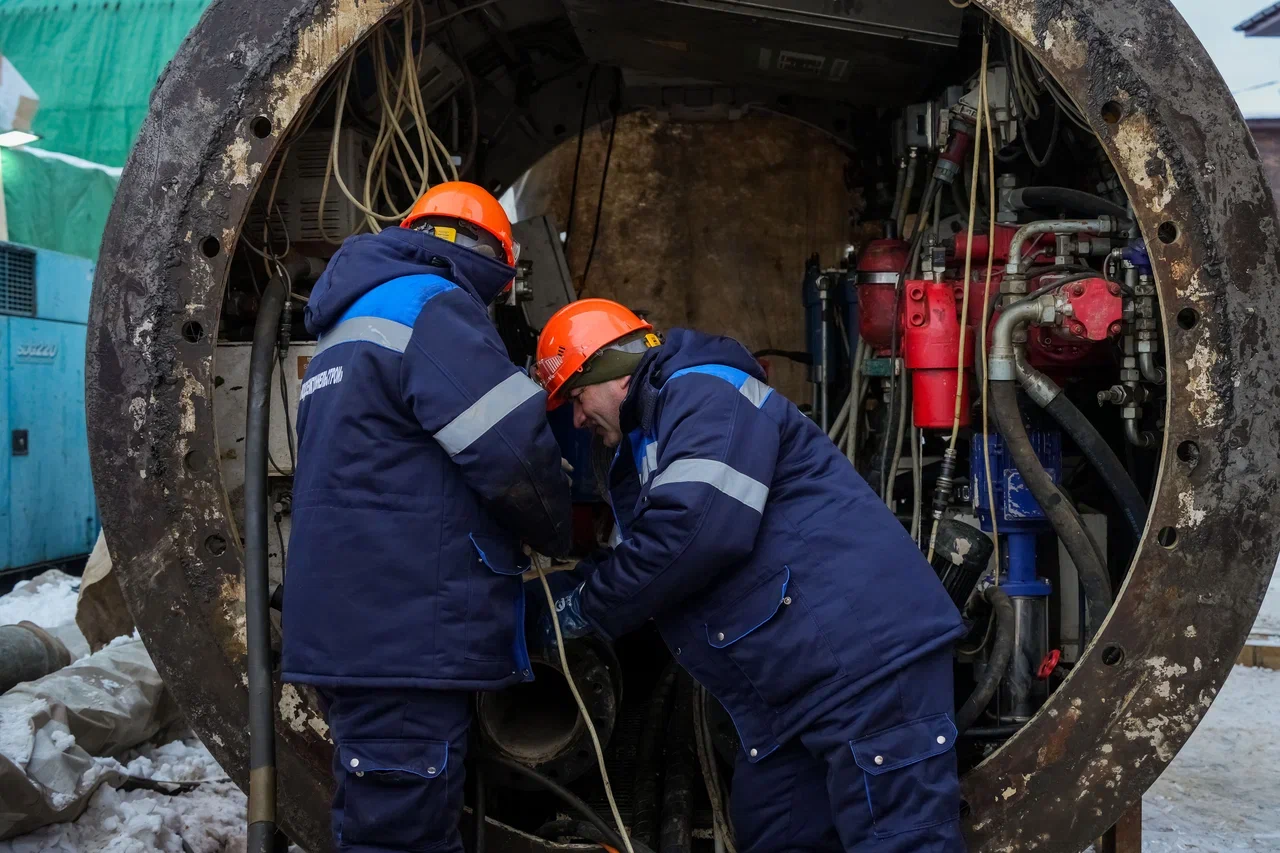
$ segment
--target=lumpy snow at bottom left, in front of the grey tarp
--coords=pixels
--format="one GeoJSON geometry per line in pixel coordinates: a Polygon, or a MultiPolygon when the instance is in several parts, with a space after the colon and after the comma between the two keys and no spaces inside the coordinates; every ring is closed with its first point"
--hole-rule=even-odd
{"type": "Polygon", "coordinates": [[[95,760],[95,770],[109,767],[155,783],[200,784],[178,795],[102,786],[74,824],[0,843],[0,853],[183,853],[184,843],[193,853],[244,850],[244,794],[195,738],[147,744],[119,762],[95,760]]]}

